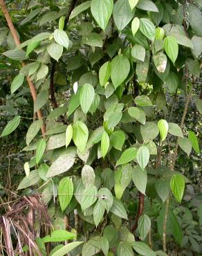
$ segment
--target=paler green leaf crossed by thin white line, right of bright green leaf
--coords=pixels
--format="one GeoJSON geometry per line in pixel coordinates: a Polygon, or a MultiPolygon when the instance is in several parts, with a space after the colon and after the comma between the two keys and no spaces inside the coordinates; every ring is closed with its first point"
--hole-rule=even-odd
{"type": "Polygon", "coordinates": [[[81,207],[82,210],[86,210],[89,208],[95,201],[98,199],[98,190],[94,185],[89,185],[89,187],[85,188],[82,193],[82,201],[81,207]]]}

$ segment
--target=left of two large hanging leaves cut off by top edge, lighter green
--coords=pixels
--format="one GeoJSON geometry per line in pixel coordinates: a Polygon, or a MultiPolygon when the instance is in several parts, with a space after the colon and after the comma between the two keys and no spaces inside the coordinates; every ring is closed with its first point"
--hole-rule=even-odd
{"type": "Polygon", "coordinates": [[[102,30],[105,30],[113,10],[113,0],[92,0],[91,13],[102,30]]]}

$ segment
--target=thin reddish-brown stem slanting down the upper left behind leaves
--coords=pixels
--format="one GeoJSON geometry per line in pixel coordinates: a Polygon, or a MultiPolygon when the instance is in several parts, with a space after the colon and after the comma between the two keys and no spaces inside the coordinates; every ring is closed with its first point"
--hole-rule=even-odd
{"type": "MultiPolygon", "coordinates": [[[[12,37],[13,37],[13,39],[15,41],[15,44],[16,44],[16,46],[19,46],[20,41],[19,41],[19,37],[17,35],[17,31],[15,29],[15,26],[12,23],[12,20],[11,20],[10,15],[8,13],[8,10],[6,8],[6,4],[4,3],[3,0],[0,0],[0,6],[1,6],[1,10],[3,12],[4,17],[6,18],[8,27],[10,28],[10,32],[12,33],[12,37]]],[[[26,66],[26,64],[24,62],[22,62],[22,66],[26,66]]],[[[35,89],[35,85],[30,80],[30,77],[26,77],[26,78],[27,78],[27,81],[28,81],[28,85],[30,87],[30,92],[31,92],[31,94],[33,96],[33,101],[35,102],[35,100],[37,99],[37,92],[36,92],[36,89],[35,89]]],[[[39,119],[43,120],[42,111],[38,110],[37,111],[37,116],[38,116],[39,119]]],[[[42,134],[44,136],[45,133],[46,133],[46,128],[45,128],[44,124],[42,125],[41,129],[42,129],[42,134]]]]}

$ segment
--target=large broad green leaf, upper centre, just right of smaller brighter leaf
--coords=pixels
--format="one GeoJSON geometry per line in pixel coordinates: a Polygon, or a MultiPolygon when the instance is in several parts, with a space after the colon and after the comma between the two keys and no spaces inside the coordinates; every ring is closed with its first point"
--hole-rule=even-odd
{"type": "Polygon", "coordinates": [[[111,80],[116,89],[127,78],[130,62],[125,55],[119,54],[111,62],[111,80]]]}

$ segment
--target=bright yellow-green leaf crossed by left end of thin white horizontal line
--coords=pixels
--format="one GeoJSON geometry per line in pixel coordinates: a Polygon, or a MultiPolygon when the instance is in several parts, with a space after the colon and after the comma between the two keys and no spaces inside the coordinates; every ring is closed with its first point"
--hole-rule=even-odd
{"type": "Polygon", "coordinates": [[[63,178],[58,185],[59,205],[64,212],[73,196],[73,182],[69,177],[63,178]]]}

